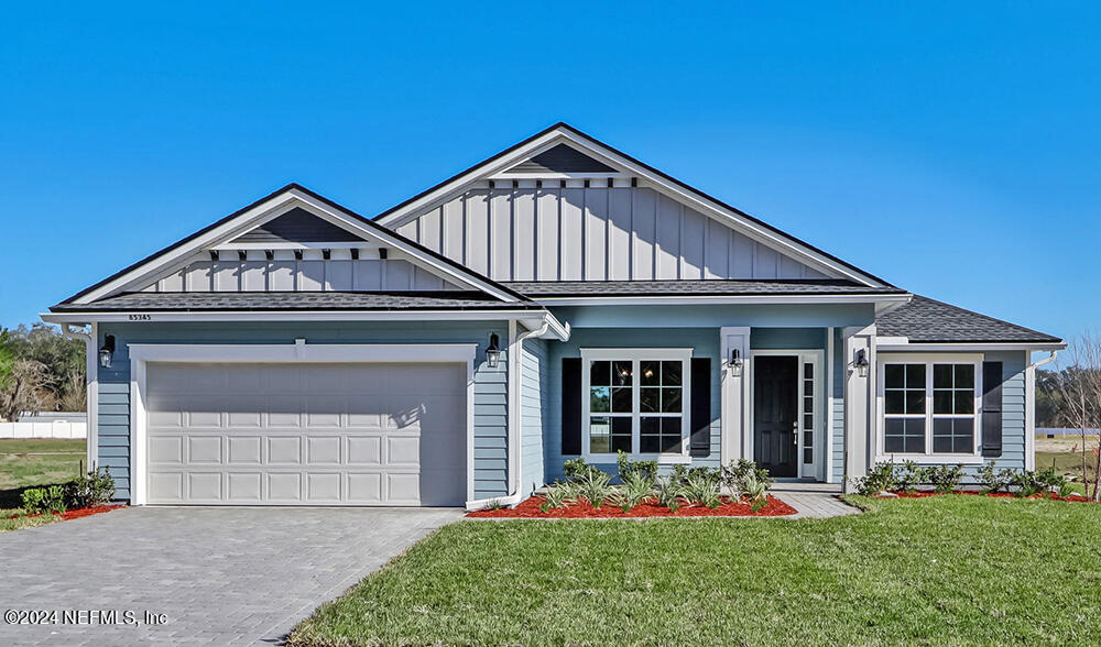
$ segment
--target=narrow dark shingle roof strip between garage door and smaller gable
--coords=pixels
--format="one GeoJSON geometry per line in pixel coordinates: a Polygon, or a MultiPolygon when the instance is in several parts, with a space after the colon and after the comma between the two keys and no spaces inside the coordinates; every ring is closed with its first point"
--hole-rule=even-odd
{"type": "Polygon", "coordinates": [[[534,309],[532,301],[505,303],[480,292],[135,292],[92,304],[58,304],[55,312],[115,310],[492,310],[534,309]]]}

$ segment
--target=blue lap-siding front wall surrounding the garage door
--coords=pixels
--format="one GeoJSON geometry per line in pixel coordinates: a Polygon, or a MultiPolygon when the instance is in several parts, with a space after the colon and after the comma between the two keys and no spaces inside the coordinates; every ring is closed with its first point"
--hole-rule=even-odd
{"type": "MultiPolygon", "coordinates": [[[[108,468],[117,500],[130,498],[130,355],[129,343],[477,343],[475,359],[475,496],[504,496],[508,486],[508,360],[486,365],[490,333],[508,337],[500,321],[401,322],[251,322],[251,324],[101,324],[116,337],[111,368],[99,368],[98,465],[108,468]]],[[[462,429],[465,432],[465,428],[462,429]]],[[[466,464],[466,458],[461,458],[466,464]]]]}

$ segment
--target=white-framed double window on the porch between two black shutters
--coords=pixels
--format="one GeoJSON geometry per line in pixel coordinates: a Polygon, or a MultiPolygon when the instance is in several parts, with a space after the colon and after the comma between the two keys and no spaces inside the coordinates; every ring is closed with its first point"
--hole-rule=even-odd
{"type": "Polygon", "coordinates": [[[581,349],[584,454],[688,457],[690,349],[581,349]]]}

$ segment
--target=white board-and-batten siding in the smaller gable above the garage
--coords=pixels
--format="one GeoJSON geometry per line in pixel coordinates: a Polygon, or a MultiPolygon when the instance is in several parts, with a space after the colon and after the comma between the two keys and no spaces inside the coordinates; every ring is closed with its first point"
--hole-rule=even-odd
{"type": "MultiPolygon", "coordinates": [[[[374,250],[370,253],[377,254],[374,250]]],[[[224,254],[229,255],[229,254],[224,254]]],[[[250,250],[246,260],[195,260],[162,276],[141,292],[350,292],[461,289],[404,259],[356,259],[348,250],[276,250],[269,261],[263,250],[250,250]]]]}

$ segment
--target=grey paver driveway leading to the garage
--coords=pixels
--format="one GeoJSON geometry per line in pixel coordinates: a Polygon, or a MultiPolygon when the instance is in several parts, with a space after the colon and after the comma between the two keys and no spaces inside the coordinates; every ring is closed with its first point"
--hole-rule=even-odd
{"type": "Polygon", "coordinates": [[[0,645],[279,644],[318,604],[460,517],[455,508],[134,507],[7,533],[0,612],[115,611],[118,624],[0,621],[0,645]],[[128,611],[167,622],[128,625],[128,611]]]}

